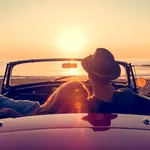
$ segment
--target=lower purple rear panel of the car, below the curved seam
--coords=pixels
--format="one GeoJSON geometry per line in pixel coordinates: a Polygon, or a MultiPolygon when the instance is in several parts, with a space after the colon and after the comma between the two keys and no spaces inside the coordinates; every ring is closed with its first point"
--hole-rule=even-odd
{"type": "Polygon", "coordinates": [[[0,134],[0,150],[149,150],[150,131],[92,128],[40,129],[0,134]]]}

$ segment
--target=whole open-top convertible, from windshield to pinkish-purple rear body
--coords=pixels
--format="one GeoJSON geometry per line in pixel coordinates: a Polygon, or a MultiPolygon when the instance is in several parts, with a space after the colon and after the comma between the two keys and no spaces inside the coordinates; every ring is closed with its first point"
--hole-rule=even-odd
{"type": "MultiPolygon", "coordinates": [[[[1,94],[43,104],[62,83],[76,79],[83,81],[92,93],[80,61],[79,58],[59,58],[10,62],[1,94]]],[[[140,84],[137,84],[134,66],[118,63],[121,76],[112,81],[112,85],[117,90],[128,88],[139,95],[140,84]]],[[[145,99],[146,103],[139,105],[144,106],[142,111],[149,110],[149,99],[145,99]]],[[[1,119],[0,150],[149,150],[150,117],[146,116],[149,113],[48,114],[1,119]]]]}

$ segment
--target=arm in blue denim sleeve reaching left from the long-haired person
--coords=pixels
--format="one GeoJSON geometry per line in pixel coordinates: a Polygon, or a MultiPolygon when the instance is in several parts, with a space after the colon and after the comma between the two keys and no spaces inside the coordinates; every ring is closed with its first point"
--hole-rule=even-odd
{"type": "Polygon", "coordinates": [[[39,107],[40,104],[38,101],[13,100],[11,98],[0,95],[0,109],[11,108],[23,115],[28,115],[32,114],[32,112],[34,112],[39,107]]]}

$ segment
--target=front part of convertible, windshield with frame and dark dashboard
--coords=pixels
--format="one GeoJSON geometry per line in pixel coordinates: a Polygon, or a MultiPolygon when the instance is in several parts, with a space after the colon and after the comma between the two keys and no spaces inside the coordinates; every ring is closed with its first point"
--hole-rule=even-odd
{"type": "MultiPolygon", "coordinates": [[[[92,93],[80,58],[32,59],[9,62],[6,67],[1,94],[13,99],[36,100],[41,104],[58,86],[68,80],[83,81],[92,93]]],[[[112,81],[116,88],[130,88],[138,93],[133,66],[118,61],[121,76],[112,81]]]]}

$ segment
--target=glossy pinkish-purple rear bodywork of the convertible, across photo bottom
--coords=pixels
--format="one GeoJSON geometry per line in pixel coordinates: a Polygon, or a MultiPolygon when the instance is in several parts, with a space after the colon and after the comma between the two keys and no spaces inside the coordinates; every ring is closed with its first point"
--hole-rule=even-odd
{"type": "Polygon", "coordinates": [[[0,150],[149,150],[150,117],[53,114],[0,120],[0,150]]]}

